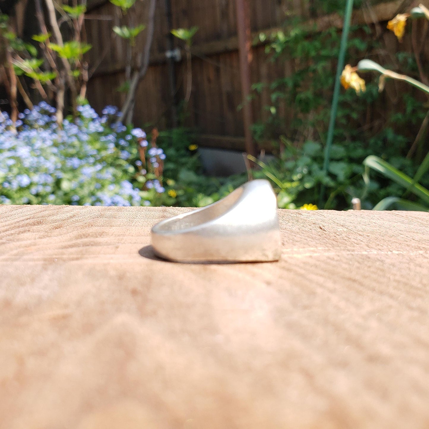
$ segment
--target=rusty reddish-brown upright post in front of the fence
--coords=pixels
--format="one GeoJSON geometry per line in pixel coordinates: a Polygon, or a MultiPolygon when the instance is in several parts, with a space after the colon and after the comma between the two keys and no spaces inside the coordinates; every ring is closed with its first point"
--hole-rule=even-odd
{"type": "Polygon", "coordinates": [[[240,75],[242,84],[242,103],[244,118],[244,135],[246,152],[256,156],[256,148],[252,139],[252,109],[250,105],[250,63],[252,60],[252,41],[248,0],[236,0],[237,33],[239,39],[240,75]]]}

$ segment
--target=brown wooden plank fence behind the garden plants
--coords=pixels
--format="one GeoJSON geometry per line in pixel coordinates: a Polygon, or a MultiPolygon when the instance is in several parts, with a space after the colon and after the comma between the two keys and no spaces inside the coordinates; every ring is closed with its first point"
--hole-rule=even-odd
{"type": "MultiPolygon", "coordinates": [[[[233,0],[173,0],[172,28],[198,26],[192,48],[192,94],[188,105],[186,124],[199,133],[199,144],[223,148],[244,148],[242,112],[237,109],[242,103],[239,72],[238,41],[236,36],[236,11],[233,0]]],[[[253,36],[261,31],[271,32],[282,24],[286,12],[295,12],[308,19],[318,30],[335,26],[342,27],[339,15],[314,17],[304,0],[249,0],[251,30],[253,36]]],[[[353,23],[378,23],[387,21],[403,3],[401,0],[384,2],[364,7],[353,14],[353,23]]],[[[418,1],[415,3],[419,3],[418,1]]],[[[429,1],[420,1],[428,4],[429,1]]],[[[429,5],[428,5],[429,6],[429,5]]],[[[147,21],[148,0],[137,0],[133,19],[137,23],[147,21]]],[[[117,91],[124,82],[127,63],[126,45],[112,33],[112,27],[124,23],[119,8],[108,1],[90,2],[85,28],[88,42],[93,45],[89,54],[91,79],[88,99],[100,111],[103,106],[120,106],[124,94],[117,91]]],[[[136,125],[152,124],[161,129],[171,125],[168,66],[166,63],[167,36],[164,0],[158,0],[156,28],[151,49],[151,61],[144,80],[139,85],[133,121],[136,125]]],[[[253,37],[253,38],[255,38],[253,37]]],[[[384,36],[389,49],[398,48],[393,34],[384,36]]],[[[145,32],[137,39],[137,47],[145,42],[145,32]]],[[[411,51],[411,40],[405,39],[411,51]]],[[[183,47],[175,41],[175,47],[183,47]]],[[[428,53],[428,52],[426,52],[428,53]]],[[[175,63],[178,99],[184,97],[185,61],[175,63]]],[[[270,82],[280,76],[287,76],[293,64],[270,63],[262,42],[255,42],[252,48],[251,81],[270,82]]],[[[427,55],[429,60],[429,53],[427,55]]],[[[356,59],[357,61],[358,59],[356,59]]],[[[252,101],[254,120],[263,120],[263,106],[269,103],[269,94],[262,93],[252,101]]],[[[285,112],[287,110],[284,107],[285,112]]],[[[285,113],[286,115],[286,113],[285,113]]]]}

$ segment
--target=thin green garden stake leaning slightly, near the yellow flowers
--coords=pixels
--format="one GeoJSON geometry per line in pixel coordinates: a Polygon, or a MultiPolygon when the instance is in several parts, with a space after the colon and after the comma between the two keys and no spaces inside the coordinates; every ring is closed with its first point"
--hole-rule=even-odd
{"type": "MultiPolygon", "coordinates": [[[[334,95],[332,97],[331,116],[329,118],[328,136],[326,138],[325,159],[323,160],[323,172],[326,174],[329,168],[329,158],[331,156],[332,140],[334,139],[335,120],[337,118],[338,97],[340,95],[340,79],[344,69],[344,59],[347,48],[347,38],[350,29],[351,15],[353,12],[353,0],[347,0],[346,11],[344,14],[343,33],[341,34],[340,53],[338,55],[337,74],[335,76],[334,95]]],[[[325,186],[320,189],[319,207],[322,207],[325,186]]]]}

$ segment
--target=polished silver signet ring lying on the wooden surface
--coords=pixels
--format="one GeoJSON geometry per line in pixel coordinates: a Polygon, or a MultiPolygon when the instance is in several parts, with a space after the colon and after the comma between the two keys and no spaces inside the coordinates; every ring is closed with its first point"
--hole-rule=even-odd
{"type": "Polygon", "coordinates": [[[267,180],[166,219],[151,231],[157,256],[175,262],[268,262],[280,259],[277,199],[267,180]]]}

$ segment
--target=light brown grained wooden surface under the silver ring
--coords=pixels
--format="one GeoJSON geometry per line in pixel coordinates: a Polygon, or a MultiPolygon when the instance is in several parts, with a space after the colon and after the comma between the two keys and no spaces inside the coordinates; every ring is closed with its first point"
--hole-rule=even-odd
{"type": "Polygon", "coordinates": [[[0,427],[429,427],[429,215],[280,211],[278,263],[154,259],[180,208],[0,206],[0,427]]]}

